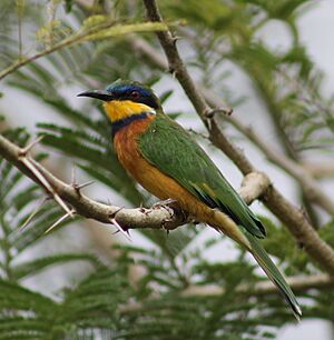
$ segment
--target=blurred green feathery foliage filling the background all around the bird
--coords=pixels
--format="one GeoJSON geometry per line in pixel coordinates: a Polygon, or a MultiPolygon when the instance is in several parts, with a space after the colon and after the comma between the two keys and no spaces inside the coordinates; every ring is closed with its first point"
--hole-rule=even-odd
{"type": "MultiPolygon", "coordinates": [[[[23,34],[23,52],[60,44],[55,52],[11,73],[6,82],[42,106],[45,118],[38,123],[39,133],[45,136],[42,148],[51,154],[56,150],[66,156],[71,166],[75,163],[129,204],[149,201],[150,197],[120,167],[101,108],[88,100],[73,108],[71,99],[81,90],[101,89],[118,78],[158,82],[163,78],[160,70],[140,59],[124,37],[129,31],[151,31],[157,27],[141,23],[143,8],[128,6],[127,1],[109,1],[109,12],[105,1],[95,1],[92,8],[81,8],[78,1],[53,1],[52,20],[46,18],[45,2],[30,6],[26,0],[22,7],[23,2],[1,3],[0,67],[9,67],[21,57],[17,43],[18,17],[22,32],[33,32],[29,37],[23,34]],[[60,4],[67,14],[59,16],[60,4]],[[111,39],[98,39],[110,36],[111,39]],[[28,49],[29,46],[32,48],[28,49]],[[56,119],[50,120],[49,113],[55,113],[56,119]]],[[[234,107],[243,104],[246,99],[237,97],[229,87],[230,72],[226,71],[226,64],[236,64],[266,104],[267,114],[278,127],[277,136],[285,140],[283,147],[293,146],[297,157],[314,148],[331,148],[334,131],[333,98],[323,98],[323,79],[298,39],[296,18],[308,3],[308,0],[158,1],[169,22],[187,21],[187,28],[179,28],[178,33],[191,46],[186,62],[198,76],[198,82],[220,97],[224,93],[234,107]],[[271,49],[258,38],[273,19],[284,23],[293,38],[284,52],[271,49]]],[[[141,38],[157,49],[149,34],[141,38]]],[[[160,98],[173,100],[173,92],[166,91],[160,98]]],[[[23,129],[2,133],[17,144],[29,142],[23,129]]],[[[43,160],[46,154],[36,157],[43,160]]],[[[271,339],[279,327],[293,320],[281,297],[256,292],[256,284],[264,277],[243,250],[235,250],[234,261],[207,260],[208,251],[224,246],[218,234],[214,241],[197,246],[205,230],[202,227],[187,226],[168,234],[140,231],[151,247],[115,247],[118,254],[108,262],[87,249],[49,253],[46,246],[47,251],[36,252],[36,247],[48,244],[43,232],[63,211],[51,201],[39,207],[45,193],[3,159],[0,179],[0,339],[271,339]],[[36,209],[28,227],[20,231],[36,209]],[[56,292],[28,288],[27,279],[39,280],[40,274],[48,273],[46,281],[52,282],[52,268],[66,271],[68,266],[82,263],[85,274],[63,276],[65,283],[56,292]],[[134,268],[140,271],[135,280],[134,268]],[[194,288],[213,286],[219,293],[190,293],[194,288]],[[243,287],[247,289],[240,291],[243,287]]],[[[272,218],[262,220],[268,233],[264,246],[287,276],[318,272],[284,226],[272,218]]],[[[63,221],[60,227],[72,227],[73,222],[78,220],[63,221]]],[[[334,246],[332,222],[320,234],[334,246]]],[[[71,234],[52,237],[58,249],[71,234]]],[[[298,296],[302,302],[303,298],[307,302],[307,307],[303,306],[306,318],[334,319],[333,306],[328,303],[334,299],[332,291],[313,289],[298,296]]]]}

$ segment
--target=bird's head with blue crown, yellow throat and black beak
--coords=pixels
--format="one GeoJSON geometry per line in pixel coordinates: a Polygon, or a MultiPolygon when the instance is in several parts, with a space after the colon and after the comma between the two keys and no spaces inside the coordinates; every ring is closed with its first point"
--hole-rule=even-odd
{"type": "Polygon", "coordinates": [[[111,122],[134,114],[155,113],[160,108],[159,99],[153,90],[135,81],[117,80],[106,90],[85,91],[78,97],[105,101],[104,107],[111,122]]]}

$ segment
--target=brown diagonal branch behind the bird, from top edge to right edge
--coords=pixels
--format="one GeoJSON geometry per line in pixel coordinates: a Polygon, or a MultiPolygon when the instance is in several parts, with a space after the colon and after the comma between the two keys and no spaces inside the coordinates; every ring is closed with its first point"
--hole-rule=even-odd
{"type": "MultiPolygon", "coordinates": [[[[154,0],[143,1],[148,19],[150,21],[163,22],[156,2],[154,0]]],[[[255,167],[248,161],[245,154],[223,133],[217,117],[213,117],[212,119],[207,118],[207,113],[212,111],[212,108],[207,104],[203,93],[200,93],[184,66],[176,47],[176,39],[171,32],[169,30],[157,32],[157,37],[166,53],[169,70],[178,79],[198,116],[208,129],[213,143],[235,162],[244,176],[255,172],[255,167]]],[[[219,107],[214,107],[214,109],[219,109],[219,107]]],[[[334,250],[318,237],[303,212],[289,203],[273,186],[267,188],[262,200],[285,223],[298,243],[304,244],[305,251],[321,267],[334,273],[334,250]]]]}

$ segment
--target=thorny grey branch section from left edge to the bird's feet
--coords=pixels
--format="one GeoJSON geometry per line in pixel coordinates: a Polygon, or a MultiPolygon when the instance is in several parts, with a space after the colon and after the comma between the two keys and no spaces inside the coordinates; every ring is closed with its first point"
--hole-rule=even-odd
{"type": "Polygon", "coordinates": [[[42,187],[49,194],[53,196],[52,193],[56,192],[75,209],[76,213],[82,217],[109,224],[115,219],[125,230],[136,228],[175,229],[187,220],[184,212],[168,206],[157,206],[151,209],[122,209],[94,201],[82,194],[76,186],[69,186],[59,180],[32,158],[24,156],[24,149],[17,147],[0,134],[0,154],[42,187]],[[49,187],[27,167],[27,161],[33,163],[49,187]]]}

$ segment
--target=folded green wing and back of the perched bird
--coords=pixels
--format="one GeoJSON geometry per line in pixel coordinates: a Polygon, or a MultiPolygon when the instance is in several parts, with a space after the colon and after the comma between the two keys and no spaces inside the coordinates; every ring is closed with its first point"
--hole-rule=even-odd
{"type": "Polygon", "coordinates": [[[218,168],[175,121],[157,113],[138,140],[143,157],[210,208],[219,209],[257,238],[265,229],[218,168]]]}

